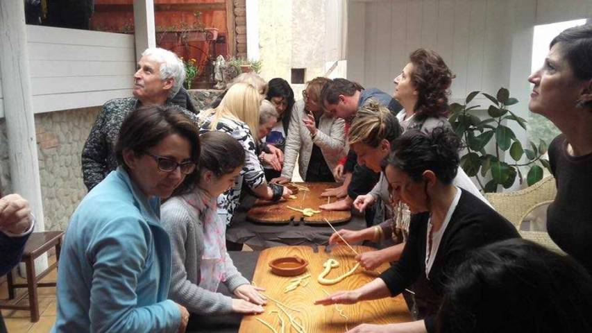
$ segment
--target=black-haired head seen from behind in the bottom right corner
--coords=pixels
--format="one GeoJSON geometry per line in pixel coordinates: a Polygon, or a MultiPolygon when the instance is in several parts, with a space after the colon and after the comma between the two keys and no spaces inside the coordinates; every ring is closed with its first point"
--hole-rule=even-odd
{"type": "Polygon", "coordinates": [[[592,332],[592,277],[524,239],[474,250],[446,287],[441,333],[592,332]]]}

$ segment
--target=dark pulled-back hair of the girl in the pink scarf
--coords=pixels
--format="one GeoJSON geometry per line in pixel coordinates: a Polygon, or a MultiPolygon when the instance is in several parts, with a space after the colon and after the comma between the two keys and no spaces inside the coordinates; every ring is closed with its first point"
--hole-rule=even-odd
{"type": "Polygon", "coordinates": [[[243,146],[228,133],[212,130],[203,133],[201,154],[197,164],[197,173],[212,171],[216,177],[226,175],[244,166],[245,152],[243,146]]]}

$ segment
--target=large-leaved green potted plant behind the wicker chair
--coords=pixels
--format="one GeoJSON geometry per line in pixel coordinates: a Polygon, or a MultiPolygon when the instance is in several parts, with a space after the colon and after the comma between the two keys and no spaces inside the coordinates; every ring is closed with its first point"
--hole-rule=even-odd
{"type": "Polygon", "coordinates": [[[522,184],[523,171],[526,169],[527,184],[533,185],[543,178],[542,167],[550,169],[549,161],[542,158],[547,151],[547,144],[541,140],[538,146],[532,142],[523,145],[516,138],[514,131],[507,126],[508,122],[515,121],[526,130],[527,121],[508,109],[516,103],[518,100],[510,97],[508,89],[502,87],[495,97],[484,92],[471,92],[466,96],[464,104],[450,105],[448,121],[466,144],[466,154],[461,157],[462,169],[468,176],[474,176],[485,192],[497,191],[498,185],[507,189],[514,184],[516,177],[522,184]],[[475,114],[482,111],[479,110],[481,105],[468,107],[478,94],[482,94],[492,103],[487,108],[487,119],[481,119],[475,114]],[[495,148],[493,153],[488,153],[486,146],[491,140],[495,148]],[[506,151],[509,151],[513,162],[503,159],[502,155],[505,155],[506,151]],[[526,162],[521,163],[523,156],[526,156],[526,162]],[[483,185],[480,177],[483,178],[488,173],[491,180],[483,185]]]}

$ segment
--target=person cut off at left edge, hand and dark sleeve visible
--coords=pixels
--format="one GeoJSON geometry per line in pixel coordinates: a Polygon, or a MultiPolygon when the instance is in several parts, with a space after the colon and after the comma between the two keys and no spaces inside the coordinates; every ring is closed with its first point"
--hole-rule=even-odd
{"type": "MultiPolygon", "coordinates": [[[[18,264],[25,243],[33,231],[33,216],[28,202],[18,194],[0,199],[0,276],[18,264]]],[[[6,332],[0,312],[0,333],[6,332]]]]}

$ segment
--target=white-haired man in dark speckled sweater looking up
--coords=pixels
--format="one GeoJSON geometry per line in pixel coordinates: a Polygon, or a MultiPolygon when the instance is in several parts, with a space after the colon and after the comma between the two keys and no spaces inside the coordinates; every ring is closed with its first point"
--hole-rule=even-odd
{"type": "Polygon", "coordinates": [[[117,168],[115,142],[121,123],[130,111],[142,105],[174,104],[197,123],[191,99],[183,89],[184,80],[185,67],[175,53],[160,48],[146,49],[142,53],[134,74],[134,96],[105,103],[84,145],[82,171],[89,191],[117,168]]]}

